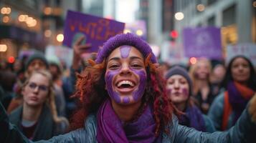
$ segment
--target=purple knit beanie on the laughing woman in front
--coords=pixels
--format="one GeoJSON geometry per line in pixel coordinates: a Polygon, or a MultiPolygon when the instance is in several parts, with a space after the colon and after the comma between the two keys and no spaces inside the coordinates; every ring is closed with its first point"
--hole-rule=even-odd
{"type": "Polygon", "coordinates": [[[151,53],[151,62],[157,62],[156,56],[153,54],[151,47],[146,43],[146,41],[143,41],[143,39],[135,34],[127,33],[118,34],[108,39],[108,41],[104,43],[103,48],[98,51],[98,56],[95,60],[96,63],[100,64],[114,49],[123,45],[134,46],[138,51],[141,51],[144,58],[151,53]]]}

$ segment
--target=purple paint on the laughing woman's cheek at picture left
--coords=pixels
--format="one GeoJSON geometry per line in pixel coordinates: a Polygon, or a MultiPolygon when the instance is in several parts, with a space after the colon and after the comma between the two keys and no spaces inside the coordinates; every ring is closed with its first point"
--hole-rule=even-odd
{"type": "Polygon", "coordinates": [[[108,89],[108,95],[110,96],[111,99],[114,99],[115,102],[121,103],[120,95],[117,92],[114,92],[113,90],[113,77],[117,75],[119,70],[115,71],[108,71],[105,74],[105,83],[108,89]]]}

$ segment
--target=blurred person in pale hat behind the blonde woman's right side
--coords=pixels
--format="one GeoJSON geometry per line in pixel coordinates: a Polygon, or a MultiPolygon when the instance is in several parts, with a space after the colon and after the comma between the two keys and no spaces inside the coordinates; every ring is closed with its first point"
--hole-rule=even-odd
{"type": "Polygon", "coordinates": [[[49,56],[47,57],[47,61],[49,64],[49,71],[52,74],[53,86],[54,86],[54,95],[55,95],[55,103],[57,105],[57,113],[61,116],[66,116],[66,102],[65,95],[62,89],[62,66],[60,64],[60,60],[57,56],[49,56]]]}

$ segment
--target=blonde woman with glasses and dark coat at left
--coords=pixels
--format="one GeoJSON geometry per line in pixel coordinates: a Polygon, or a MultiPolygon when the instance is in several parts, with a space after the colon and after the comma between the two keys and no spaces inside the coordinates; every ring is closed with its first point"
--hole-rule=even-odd
{"type": "Polygon", "coordinates": [[[67,130],[67,119],[57,117],[53,86],[46,70],[33,71],[22,86],[24,102],[9,118],[28,139],[49,139],[67,130]]]}

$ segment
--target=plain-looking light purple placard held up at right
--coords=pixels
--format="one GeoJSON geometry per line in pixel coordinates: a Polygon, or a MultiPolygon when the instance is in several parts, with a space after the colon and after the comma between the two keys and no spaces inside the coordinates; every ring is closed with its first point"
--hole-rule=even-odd
{"type": "Polygon", "coordinates": [[[186,28],[183,31],[186,57],[222,59],[220,29],[217,27],[186,28]]]}

